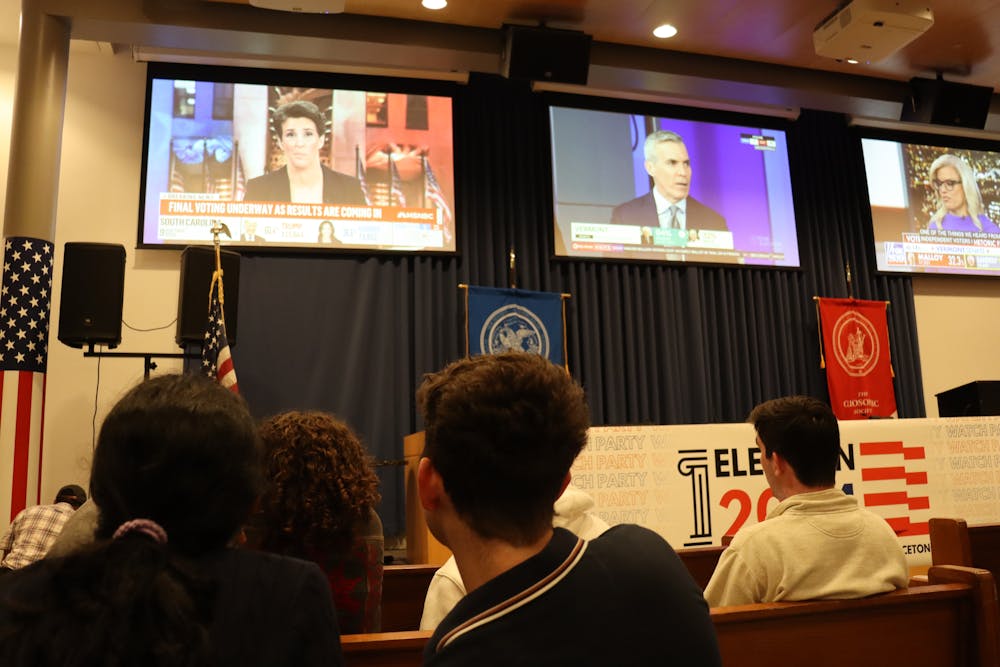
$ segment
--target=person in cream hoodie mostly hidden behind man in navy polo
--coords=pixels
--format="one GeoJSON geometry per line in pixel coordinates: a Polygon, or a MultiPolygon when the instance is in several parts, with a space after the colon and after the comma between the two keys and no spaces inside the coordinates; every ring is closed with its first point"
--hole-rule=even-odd
{"type": "MultiPolygon", "coordinates": [[[[585,540],[592,540],[605,530],[604,519],[590,512],[594,499],[571,483],[555,504],[552,525],[565,528],[585,540]]],[[[465,597],[465,583],[458,571],[455,556],[449,556],[431,579],[424,599],[424,613],[420,617],[421,630],[433,630],[448,612],[465,597]]]]}

